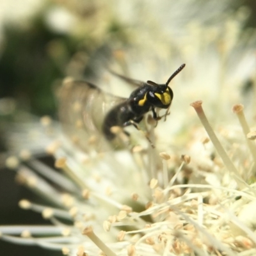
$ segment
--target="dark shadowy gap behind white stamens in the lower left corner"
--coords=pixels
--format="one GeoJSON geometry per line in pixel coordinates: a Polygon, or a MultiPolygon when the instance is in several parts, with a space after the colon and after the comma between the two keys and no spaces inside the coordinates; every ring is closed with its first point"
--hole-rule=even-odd
{"type": "MultiPolygon", "coordinates": [[[[33,211],[24,211],[18,206],[23,198],[40,202],[38,196],[23,186],[17,186],[15,172],[6,168],[0,170],[0,225],[51,225],[41,214],[33,211]]],[[[44,204],[44,202],[40,202],[44,204]]],[[[6,243],[0,239],[0,254],[10,256],[42,255],[60,256],[61,252],[49,251],[38,246],[22,246],[6,243]]]]}

